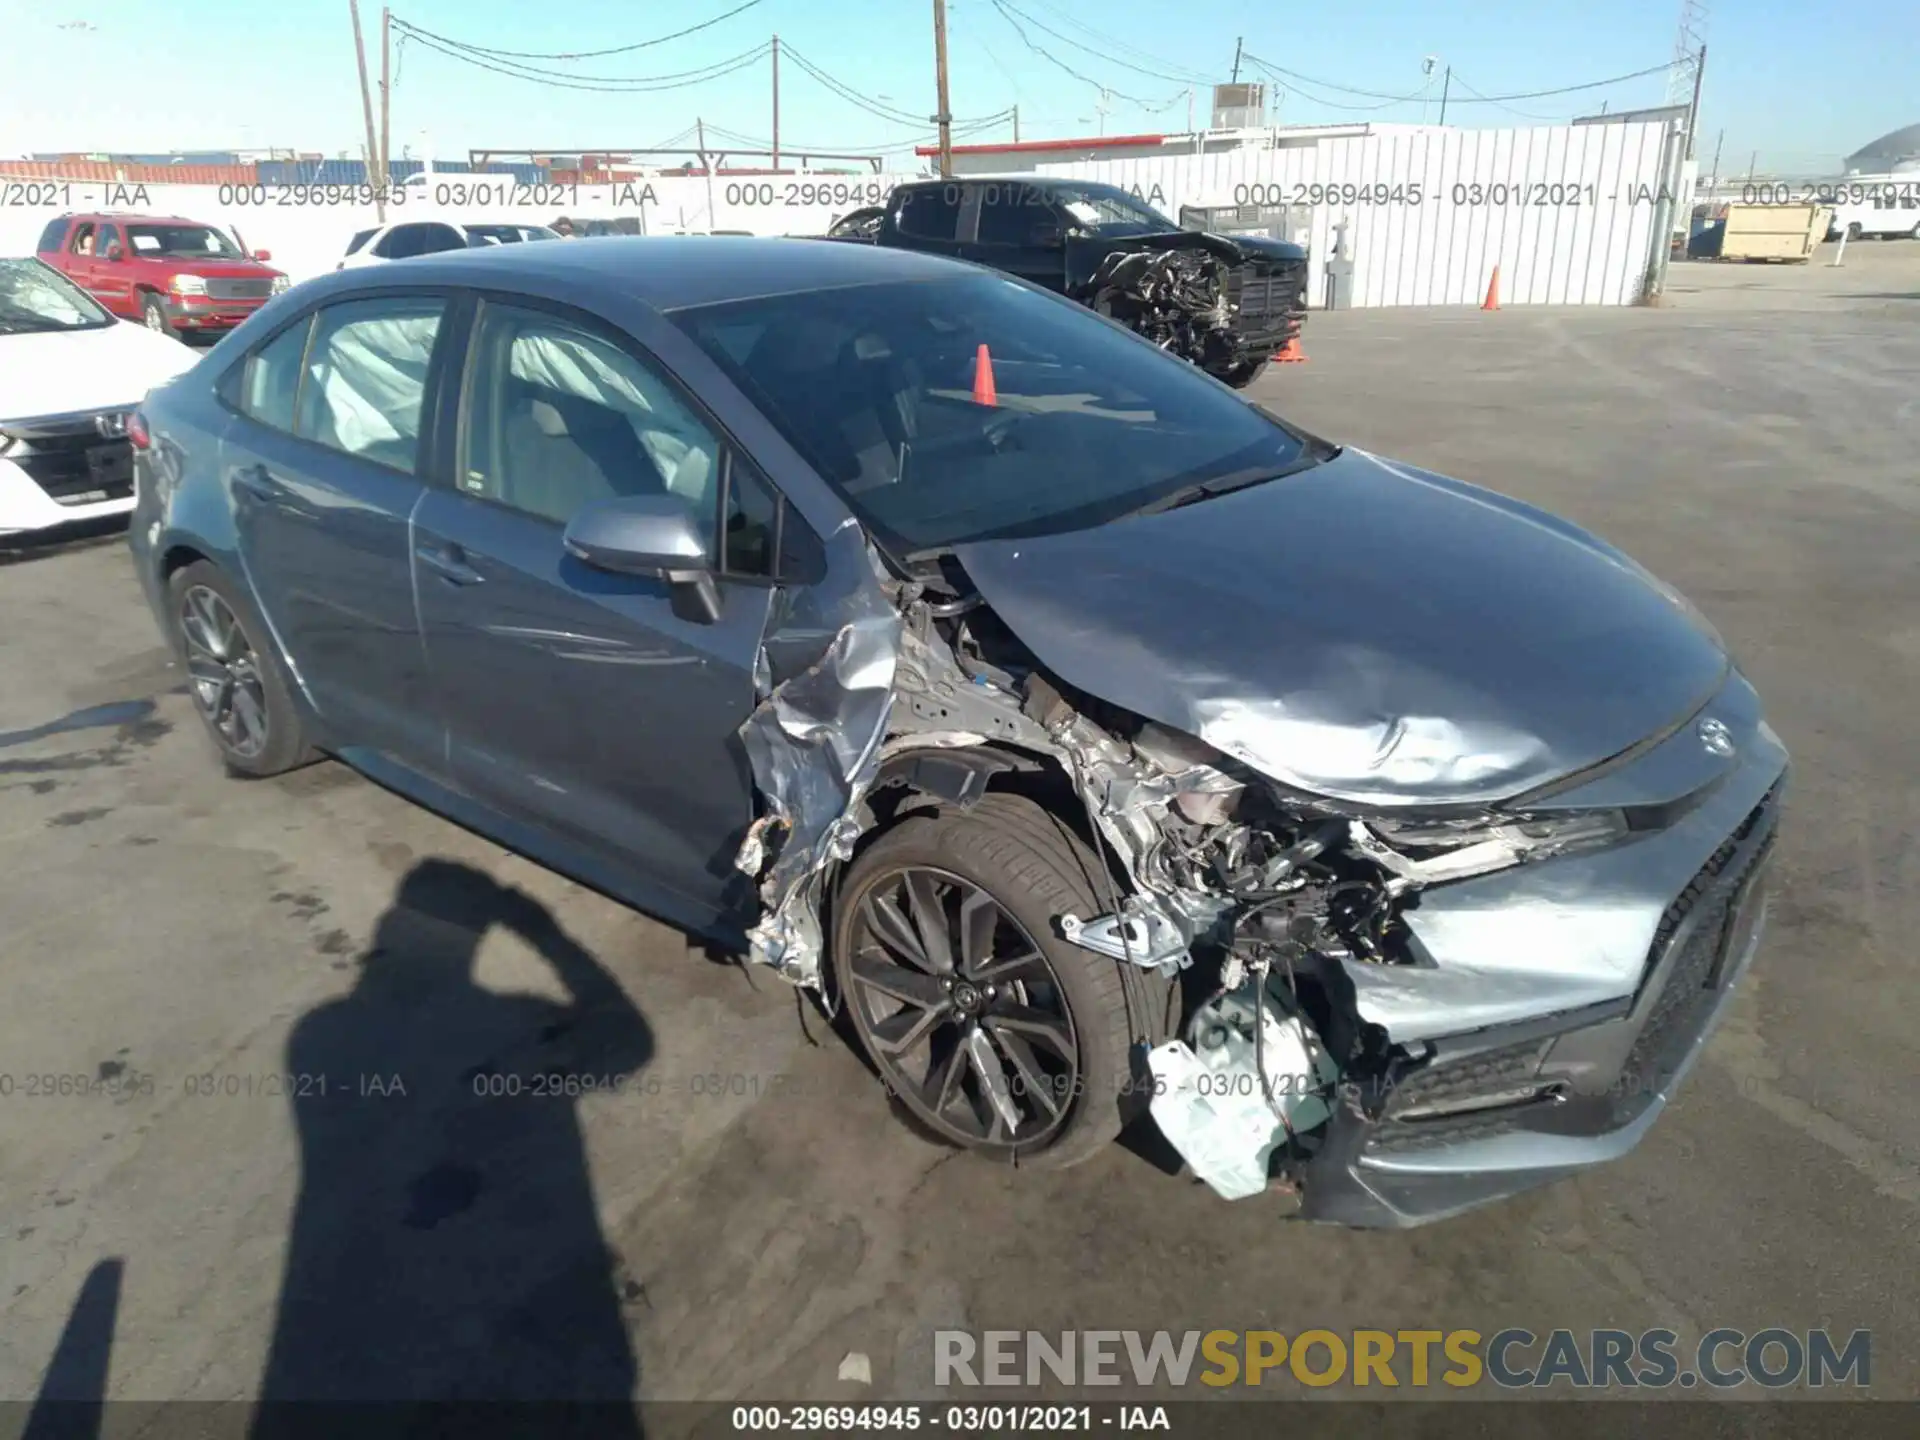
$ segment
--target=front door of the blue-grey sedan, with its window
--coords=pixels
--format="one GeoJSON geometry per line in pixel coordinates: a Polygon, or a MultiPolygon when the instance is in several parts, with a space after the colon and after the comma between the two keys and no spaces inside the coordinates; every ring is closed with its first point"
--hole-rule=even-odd
{"type": "Polygon", "coordinates": [[[482,301],[467,374],[455,484],[415,524],[455,780],[564,845],[576,874],[687,924],[720,916],[751,893],[733,870],[753,820],[735,732],[755,707],[778,495],[630,336],[576,311],[482,301]],[[714,620],[678,614],[664,580],[564,551],[566,520],[616,495],[676,495],[699,516],[714,620]]]}

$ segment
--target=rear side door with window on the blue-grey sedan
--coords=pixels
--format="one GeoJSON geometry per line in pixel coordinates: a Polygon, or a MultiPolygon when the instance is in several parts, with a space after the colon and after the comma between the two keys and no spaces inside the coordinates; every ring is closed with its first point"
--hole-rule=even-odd
{"type": "Polygon", "coordinates": [[[444,774],[413,605],[422,417],[453,298],[334,300],[257,346],[227,388],[221,449],[240,559],[334,743],[444,774]]]}

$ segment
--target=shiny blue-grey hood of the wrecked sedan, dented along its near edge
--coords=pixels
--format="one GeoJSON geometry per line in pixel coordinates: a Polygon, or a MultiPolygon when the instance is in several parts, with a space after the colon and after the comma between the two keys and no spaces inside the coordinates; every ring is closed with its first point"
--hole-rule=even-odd
{"type": "Polygon", "coordinates": [[[1511,799],[1680,724],[1728,670],[1605,541],[1354,449],[956,557],[1069,685],[1359,804],[1511,799]]]}

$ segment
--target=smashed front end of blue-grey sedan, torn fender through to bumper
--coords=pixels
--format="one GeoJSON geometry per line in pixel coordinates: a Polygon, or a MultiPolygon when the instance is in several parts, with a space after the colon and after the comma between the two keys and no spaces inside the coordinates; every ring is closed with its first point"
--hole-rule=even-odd
{"type": "Polygon", "coordinates": [[[1753,952],[1786,755],[1738,676],[1709,710],[1751,764],[1682,776],[1697,755],[1674,737],[1640,760],[1684,803],[1622,803],[1645,795],[1615,772],[1534,808],[1386,812],[1071,687],[952,572],[874,572],[877,597],[743,732],[766,803],[737,858],[753,956],[822,985],[822,902],[902,760],[1052,776],[1112,877],[1108,908],[1056,933],[1181,979],[1150,1112],[1229,1200],[1411,1225],[1611,1160],[1753,952]]]}

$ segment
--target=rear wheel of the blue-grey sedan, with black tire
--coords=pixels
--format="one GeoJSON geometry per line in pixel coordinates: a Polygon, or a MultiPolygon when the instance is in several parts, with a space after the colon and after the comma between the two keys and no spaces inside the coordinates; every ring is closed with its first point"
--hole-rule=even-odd
{"type": "Polygon", "coordinates": [[[267,628],[217,566],[194,561],[167,580],[173,628],[167,639],[186,666],[188,695],[213,737],[221,762],[236,776],[278,776],[319,758],[307,743],[307,732],[286,684],[286,672],[267,639],[267,628]],[[232,632],[223,634],[217,609],[205,603],[211,595],[225,607],[232,632]],[[207,643],[209,634],[219,643],[207,643]],[[238,637],[240,645],[232,643],[238,637]],[[219,651],[225,645],[227,657],[219,651]],[[217,685],[215,668],[225,668],[225,691],[209,695],[217,685]],[[255,739],[253,716],[265,735],[255,739]],[[223,718],[227,724],[223,724],[223,718]]]}

